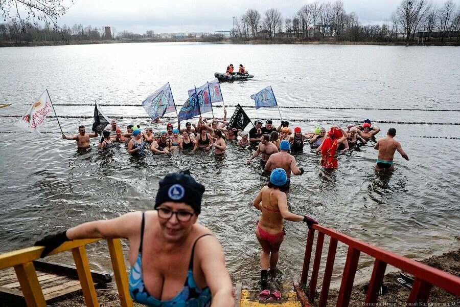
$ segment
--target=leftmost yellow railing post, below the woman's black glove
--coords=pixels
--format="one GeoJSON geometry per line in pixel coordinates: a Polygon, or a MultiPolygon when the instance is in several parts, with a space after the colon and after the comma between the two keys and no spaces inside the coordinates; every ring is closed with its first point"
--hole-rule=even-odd
{"type": "Polygon", "coordinates": [[[24,264],[14,266],[14,271],[16,271],[27,306],[46,307],[47,303],[44,300],[43,292],[41,292],[37,272],[35,272],[33,263],[25,262],[24,264]]]}

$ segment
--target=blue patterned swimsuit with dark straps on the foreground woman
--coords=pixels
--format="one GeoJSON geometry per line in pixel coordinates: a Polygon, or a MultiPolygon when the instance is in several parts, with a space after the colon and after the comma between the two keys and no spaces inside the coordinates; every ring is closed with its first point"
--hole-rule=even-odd
{"type": "Polygon", "coordinates": [[[134,266],[131,268],[129,274],[129,294],[132,299],[141,304],[150,307],[177,307],[177,306],[211,306],[211,291],[209,287],[203,289],[198,288],[195,278],[193,278],[193,254],[195,251],[196,242],[206,235],[199,236],[192,247],[192,255],[190,256],[189,271],[187,278],[183,284],[183,289],[174,298],[162,301],[151,296],[147,289],[144,287],[144,278],[142,277],[142,242],[144,239],[144,226],[145,226],[145,212],[142,213],[142,226],[141,226],[141,245],[139,246],[139,255],[137,256],[134,266]]]}

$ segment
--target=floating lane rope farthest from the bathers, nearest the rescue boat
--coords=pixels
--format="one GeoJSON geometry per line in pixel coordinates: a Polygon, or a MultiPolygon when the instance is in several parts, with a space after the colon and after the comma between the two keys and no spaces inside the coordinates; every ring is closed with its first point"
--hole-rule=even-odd
{"type": "MultiPolygon", "coordinates": [[[[29,104],[24,104],[29,105],[29,104]]],[[[79,106],[79,105],[90,105],[94,106],[91,103],[53,103],[53,105],[60,105],[60,106],[79,106]]],[[[109,104],[109,103],[98,103],[99,106],[139,106],[142,107],[142,104],[109,104]]],[[[176,104],[176,106],[182,107],[180,104],[176,104]]],[[[214,105],[213,107],[223,107],[223,105],[214,105]]],[[[236,105],[226,105],[225,107],[236,107],[236,105]]],[[[241,105],[241,107],[246,108],[256,108],[255,105],[241,105]]],[[[278,107],[278,106],[266,106],[270,107],[278,107]]],[[[408,108],[374,108],[374,107],[330,107],[330,106],[282,106],[279,105],[280,108],[291,108],[291,109],[331,109],[331,110],[379,110],[379,111],[430,111],[430,112],[460,112],[459,110],[454,109],[408,109],[408,108]]]]}

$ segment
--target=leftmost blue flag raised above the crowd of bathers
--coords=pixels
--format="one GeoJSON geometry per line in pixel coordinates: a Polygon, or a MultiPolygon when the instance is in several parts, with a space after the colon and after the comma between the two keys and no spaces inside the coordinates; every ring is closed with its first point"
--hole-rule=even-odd
{"type": "Polygon", "coordinates": [[[175,112],[176,105],[174,104],[169,82],[147,97],[142,102],[142,106],[152,119],[160,118],[166,113],[175,112]]]}

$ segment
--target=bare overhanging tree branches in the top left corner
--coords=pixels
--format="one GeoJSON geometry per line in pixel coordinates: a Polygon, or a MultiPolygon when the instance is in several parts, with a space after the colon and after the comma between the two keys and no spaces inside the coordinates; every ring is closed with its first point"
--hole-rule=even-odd
{"type": "Polygon", "coordinates": [[[53,25],[57,29],[57,19],[65,14],[73,0],[0,0],[0,12],[4,21],[14,20],[22,32],[31,23],[37,26],[41,21],[45,26],[53,25]],[[24,13],[24,14],[22,14],[24,13]]]}

